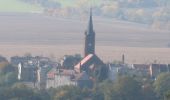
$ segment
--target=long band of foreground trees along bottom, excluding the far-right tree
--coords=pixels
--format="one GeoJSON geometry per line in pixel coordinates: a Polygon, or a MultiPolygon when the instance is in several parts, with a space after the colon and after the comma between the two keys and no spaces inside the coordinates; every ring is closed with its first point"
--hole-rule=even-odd
{"type": "MultiPolygon", "coordinates": [[[[115,81],[103,81],[94,88],[62,86],[47,90],[28,88],[21,83],[0,88],[4,100],[160,100],[157,99],[152,82],[139,83],[133,77],[119,76],[115,81]]],[[[169,98],[169,92],[166,92],[169,98]]]]}

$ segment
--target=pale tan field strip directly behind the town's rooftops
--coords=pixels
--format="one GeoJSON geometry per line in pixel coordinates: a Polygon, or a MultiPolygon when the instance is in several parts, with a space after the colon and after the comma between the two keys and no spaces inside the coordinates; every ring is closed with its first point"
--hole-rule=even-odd
{"type": "MultiPolygon", "coordinates": [[[[82,45],[18,45],[0,44],[0,54],[3,56],[23,56],[31,53],[34,56],[55,56],[56,59],[64,55],[82,54],[82,45]]],[[[170,48],[144,48],[144,47],[115,47],[115,46],[96,46],[96,54],[104,62],[121,61],[122,54],[125,55],[125,62],[133,63],[170,63],[170,48]]]]}

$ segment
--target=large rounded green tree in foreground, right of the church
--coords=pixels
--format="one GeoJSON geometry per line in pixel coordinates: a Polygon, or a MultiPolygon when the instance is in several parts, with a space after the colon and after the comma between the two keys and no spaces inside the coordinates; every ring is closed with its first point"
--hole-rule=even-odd
{"type": "Polygon", "coordinates": [[[113,88],[118,100],[142,100],[141,86],[132,77],[120,76],[113,88]]]}

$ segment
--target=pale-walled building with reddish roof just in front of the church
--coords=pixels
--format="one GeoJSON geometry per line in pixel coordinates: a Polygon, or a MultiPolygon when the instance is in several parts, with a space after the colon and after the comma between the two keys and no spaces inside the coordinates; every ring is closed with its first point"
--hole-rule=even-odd
{"type": "Polygon", "coordinates": [[[74,70],[68,69],[52,69],[48,72],[46,88],[56,88],[65,85],[91,88],[93,82],[86,72],[76,73],[74,70]]]}

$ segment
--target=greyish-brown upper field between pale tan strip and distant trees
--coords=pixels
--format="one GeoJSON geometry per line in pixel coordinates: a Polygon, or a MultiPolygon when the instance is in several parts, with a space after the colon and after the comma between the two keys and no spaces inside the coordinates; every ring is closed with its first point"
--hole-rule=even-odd
{"type": "MultiPolygon", "coordinates": [[[[39,14],[0,14],[0,43],[81,44],[88,17],[64,19],[39,14]],[[68,42],[69,41],[69,42],[68,42]]],[[[94,17],[98,45],[167,47],[169,31],[146,24],[94,17]]]]}

